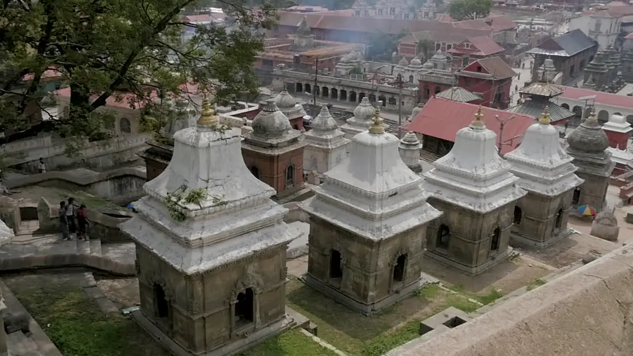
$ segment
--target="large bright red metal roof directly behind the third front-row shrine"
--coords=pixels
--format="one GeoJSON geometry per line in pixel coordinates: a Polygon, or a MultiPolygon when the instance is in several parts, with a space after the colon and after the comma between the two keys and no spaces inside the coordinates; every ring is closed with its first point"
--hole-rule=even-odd
{"type": "MultiPolygon", "coordinates": [[[[433,96],[423,106],[422,110],[413,121],[404,127],[405,130],[417,134],[424,134],[439,139],[455,142],[457,131],[467,127],[475,118],[479,105],[458,103],[433,96]]],[[[511,113],[499,109],[482,106],[482,113],[486,121],[486,127],[499,136],[501,122],[503,134],[501,134],[501,154],[508,153],[521,143],[523,134],[536,118],[511,113]],[[498,117],[498,120],[495,118],[498,117]],[[510,119],[511,117],[514,117],[510,119]]],[[[497,138],[499,141],[499,137],[497,138]]]]}

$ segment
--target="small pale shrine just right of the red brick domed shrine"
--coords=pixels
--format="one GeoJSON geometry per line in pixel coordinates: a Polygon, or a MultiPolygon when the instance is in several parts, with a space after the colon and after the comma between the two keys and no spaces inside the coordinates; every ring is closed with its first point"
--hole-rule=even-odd
{"type": "Polygon", "coordinates": [[[336,167],[347,155],[349,139],[343,137],[327,106],[312,122],[312,129],[305,134],[308,146],[303,151],[303,169],[319,174],[336,167]]]}

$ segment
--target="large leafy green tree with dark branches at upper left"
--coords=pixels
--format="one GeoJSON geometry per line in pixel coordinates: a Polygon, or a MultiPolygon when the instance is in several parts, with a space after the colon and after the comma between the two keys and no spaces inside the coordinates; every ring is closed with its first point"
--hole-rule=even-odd
{"type": "Polygon", "coordinates": [[[151,106],[157,92],[184,96],[185,82],[210,91],[216,103],[253,94],[259,33],[272,25],[274,10],[263,4],[253,11],[245,1],[216,2],[234,19],[230,28],[182,22],[181,9],[196,0],[4,1],[0,130],[30,125],[27,108],[46,95],[42,76],[51,69],[70,87],[70,117],[56,129],[79,139],[100,137],[103,119],[94,111],[110,98],[151,106]]]}

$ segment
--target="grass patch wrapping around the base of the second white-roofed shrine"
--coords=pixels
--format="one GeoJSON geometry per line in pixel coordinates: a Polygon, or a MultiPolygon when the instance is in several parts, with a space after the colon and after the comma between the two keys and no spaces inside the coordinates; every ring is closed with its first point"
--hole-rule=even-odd
{"type": "Polygon", "coordinates": [[[420,321],[448,307],[472,312],[479,305],[430,284],[411,298],[366,317],[291,278],[287,303],[318,326],[318,336],[350,356],[380,356],[419,336],[420,321]]]}

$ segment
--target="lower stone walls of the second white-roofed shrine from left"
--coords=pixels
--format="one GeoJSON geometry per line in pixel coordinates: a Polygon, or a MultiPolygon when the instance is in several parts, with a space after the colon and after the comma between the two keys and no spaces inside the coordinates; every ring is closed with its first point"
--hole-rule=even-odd
{"type": "Polygon", "coordinates": [[[311,216],[306,282],[372,314],[419,288],[425,230],[420,226],[374,242],[311,216]]]}

